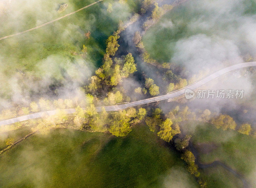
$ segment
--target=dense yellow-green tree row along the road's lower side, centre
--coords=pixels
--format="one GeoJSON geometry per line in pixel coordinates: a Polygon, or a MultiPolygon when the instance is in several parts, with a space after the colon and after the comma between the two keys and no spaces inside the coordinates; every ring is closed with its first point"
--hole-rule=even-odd
{"type": "Polygon", "coordinates": [[[126,136],[132,130],[132,126],[140,123],[146,116],[146,109],[135,108],[107,113],[102,107],[100,113],[97,112],[93,104],[83,110],[76,108],[74,124],[82,130],[111,132],[115,136],[126,136]]]}

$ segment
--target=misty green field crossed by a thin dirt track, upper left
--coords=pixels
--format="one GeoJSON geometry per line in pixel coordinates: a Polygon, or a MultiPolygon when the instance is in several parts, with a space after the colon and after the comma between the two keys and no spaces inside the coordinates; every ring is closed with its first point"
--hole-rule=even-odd
{"type": "MultiPolygon", "coordinates": [[[[63,3],[60,0],[12,1],[0,16],[0,37],[44,24],[93,2],[67,0],[67,9],[58,13],[63,3]]],[[[1,40],[0,96],[26,99],[32,94],[45,94],[49,86],[72,90],[84,85],[102,63],[108,36],[116,31],[120,19],[125,23],[138,11],[139,3],[107,0],[44,27],[1,40]],[[110,13],[109,3],[113,8],[110,13]],[[84,34],[88,31],[91,36],[86,39],[84,34]],[[86,56],[74,55],[81,54],[83,45],[88,49],[86,56]]]]}

